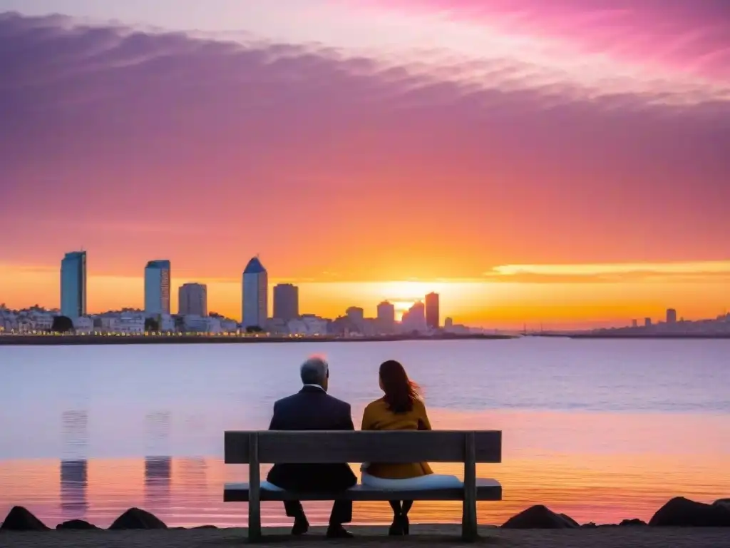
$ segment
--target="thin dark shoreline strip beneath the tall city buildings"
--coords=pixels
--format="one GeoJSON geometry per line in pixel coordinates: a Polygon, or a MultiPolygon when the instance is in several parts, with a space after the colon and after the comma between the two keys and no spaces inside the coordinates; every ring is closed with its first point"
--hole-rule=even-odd
{"type": "Polygon", "coordinates": [[[0,335],[0,346],[120,344],[393,343],[403,340],[508,340],[519,335],[383,335],[374,337],[257,337],[239,335],[0,335]]]}

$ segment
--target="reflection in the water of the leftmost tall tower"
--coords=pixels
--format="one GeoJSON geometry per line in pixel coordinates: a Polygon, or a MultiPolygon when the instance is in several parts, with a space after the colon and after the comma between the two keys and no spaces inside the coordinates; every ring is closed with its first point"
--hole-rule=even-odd
{"type": "Polygon", "coordinates": [[[88,509],[88,414],[86,411],[64,411],[61,414],[64,438],[61,458],[61,515],[64,520],[85,517],[88,509]]]}

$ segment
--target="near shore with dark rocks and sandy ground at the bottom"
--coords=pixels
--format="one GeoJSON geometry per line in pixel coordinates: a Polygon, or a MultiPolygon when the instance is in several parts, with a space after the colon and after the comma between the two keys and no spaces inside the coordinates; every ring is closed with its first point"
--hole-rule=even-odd
{"type": "MultiPolygon", "coordinates": [[[[174,546],[227,546],[245,539],[245,529],[218,529],[212,525],[197,528],[168,528],[149,512],[131,508],[121,514],[107,530],[82,520],[71,520],[52,531],[31,511],[15,506],[0,525],[0,545],[25,548],[38,546],[85,547],[118,546],[121,548],[166,548],[174,546]],[[94,534],[94,531],[99,531],[94,534]],[[103,531],[103,532],[102,532],[103,531]],[[145,533],[147,531],[147,533],[145,533]],[[166,531],[166,532],[165,532],[166,531]],[[35,534],[37,533],[37,534],[35,534]],[[164,533],[164,537],[160,535],[164,533]],[[98,536],[101,535],[101,536],[98,536]],[[154,538],[153,538],[154,537],[154,538]]],[[[380,544],[461,544],[458,525],[414,525],[407,538],[386,536],[384,527],[355,527],[359,542],[380,544]]],[[[499,527],[480,528],[484,541],[504,539],[507,545],[524,547],[590,547],[602,546],[730,546],[730,499],[712,504],[698,503],[677,497],[656,511],[649,522],[623,520],[618,524],[579,524],[566,514],[558,514],[538,505],[521,511],[499,527]]],[[[291,538],[281,528],[265,528],[266,541],[285,542],[288,546],[323,541],[318,528],[306,538],[291,538]]],[[[358,540],[356,539],[356,540],[358,540]]],[[[334,544],[353,541],[334,541],[334,544]]],[[[326,541],[326,544],[333,544],[326,541]]],[[[500,543],[501,544],[501,543],[500,543]]]]}

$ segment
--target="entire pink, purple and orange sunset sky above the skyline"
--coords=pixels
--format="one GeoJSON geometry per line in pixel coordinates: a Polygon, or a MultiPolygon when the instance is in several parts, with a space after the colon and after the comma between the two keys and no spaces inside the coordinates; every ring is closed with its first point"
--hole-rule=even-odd
{"type": "Polygon", "coordinates": [[[91,312],[142,306],[145,263],[170,259],[239,318],[255,254],[325,316],[431,290],[486,327],[730,308],[727,0],[0,14],[11,307],[58,306],[84,248],[91,312]]]}

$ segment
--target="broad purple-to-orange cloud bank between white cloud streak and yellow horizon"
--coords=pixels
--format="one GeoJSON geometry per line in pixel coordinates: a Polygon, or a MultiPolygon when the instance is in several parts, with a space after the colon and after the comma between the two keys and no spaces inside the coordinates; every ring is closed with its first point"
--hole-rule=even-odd
{"type": "Polygon", "coordinates": [[[726,254],[722,102],[505,91],[331,48],[12,15],[0,73],[9,261],[84,245],[111,273],[166,256],[229,276],[261,252],[282,275],[450,277],[726,254]]]}

